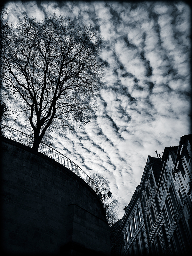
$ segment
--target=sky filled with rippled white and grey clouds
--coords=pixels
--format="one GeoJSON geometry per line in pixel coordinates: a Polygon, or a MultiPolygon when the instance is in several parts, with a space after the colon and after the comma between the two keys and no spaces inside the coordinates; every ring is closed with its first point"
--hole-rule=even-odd
{"type": "Polygon", "coordinates": [[[148,155],[190,133],[190,8],[184,2],[10,1],[4,20],[57,14],[102,34],[104,87],[96,118],[55,147],[88,174],[111,182],[118,218],[140,183],[148,155]]]}

